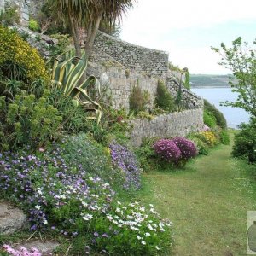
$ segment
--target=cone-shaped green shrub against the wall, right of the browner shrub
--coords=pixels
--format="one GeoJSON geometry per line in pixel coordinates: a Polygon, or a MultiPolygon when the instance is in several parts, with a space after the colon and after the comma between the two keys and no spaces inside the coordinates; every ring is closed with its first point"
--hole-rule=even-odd
{"type": "Polygon", "coordinates": [[[161,80],[159,80],[157,84],[155,105],[168,112],[175,110],[175,101],[169,90],[167,90],[166,85],[161,80]]]}

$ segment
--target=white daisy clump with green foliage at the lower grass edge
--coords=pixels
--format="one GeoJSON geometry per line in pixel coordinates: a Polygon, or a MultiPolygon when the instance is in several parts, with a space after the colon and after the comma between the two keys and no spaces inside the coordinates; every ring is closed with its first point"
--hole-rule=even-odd
{"type": "Polygon", "coordinates": [[[153,205],[144,207],[137,201],[112,204],[106,218],[98,220],[101,228],[94,233],[94,247],[109,254],[156,255],[172,245],[172,223],[160,218],[153,205]]]}

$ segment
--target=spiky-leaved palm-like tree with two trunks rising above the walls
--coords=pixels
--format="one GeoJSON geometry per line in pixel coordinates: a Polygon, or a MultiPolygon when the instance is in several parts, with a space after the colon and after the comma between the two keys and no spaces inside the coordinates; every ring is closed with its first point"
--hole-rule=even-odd
{"type": "Polygon", "coordinates": [[[121,21],[122,15],[132,8],[135,2],[137,0],[56,0],[54,4],[55,10],[71,28],[76,55],[79,57],[79,26],[84,26],[87,32],[85,52],[88,58],[101,20],[108,20],[110,24],[121,21]]]}

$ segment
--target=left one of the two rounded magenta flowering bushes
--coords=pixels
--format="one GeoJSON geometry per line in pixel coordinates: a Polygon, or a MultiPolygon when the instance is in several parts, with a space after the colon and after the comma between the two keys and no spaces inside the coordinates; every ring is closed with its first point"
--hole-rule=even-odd
{"type": "Polygon", "coordinates": [[[176,162],[180,159],[182,153],[177,145],[170,139],[160,139],[153,145],[155,154],[160,158],[169,161],[176,162]]]}

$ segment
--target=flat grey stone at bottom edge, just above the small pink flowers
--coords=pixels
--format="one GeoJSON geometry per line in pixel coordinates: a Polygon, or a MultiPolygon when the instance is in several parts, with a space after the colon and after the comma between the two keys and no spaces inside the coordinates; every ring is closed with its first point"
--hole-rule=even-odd
{"type": "Polygon", "coordinates": [[[37,248],[40,253],[42,253],[43,256],[49,256],[52,255],[52,252],[55,250],[56,247],[59,246],[59,243],[55,241],[28,241],[26,243],[22,243],[20,245],[22,247],[26,247],[26,249],[31,250],[32,248],[37,248]]]}

